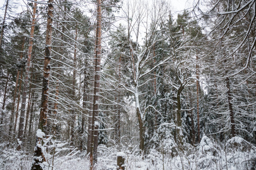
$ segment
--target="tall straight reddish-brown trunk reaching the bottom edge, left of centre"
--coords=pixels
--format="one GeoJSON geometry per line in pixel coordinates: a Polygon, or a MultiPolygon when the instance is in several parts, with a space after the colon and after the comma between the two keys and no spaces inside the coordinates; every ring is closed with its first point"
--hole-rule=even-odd
{"type": "Polygon", "coordinates": [[[97,162],[98,147],[98,99],[100,93],[100,72],[101,72],[101,0],[97,0],[97,28],[96,28],[96,48],[95,48],[95,74],[93,89],[93,112],[92,112],[92,134],[90,141],[90,170],[93,170],[94,164],[97,162]]]}

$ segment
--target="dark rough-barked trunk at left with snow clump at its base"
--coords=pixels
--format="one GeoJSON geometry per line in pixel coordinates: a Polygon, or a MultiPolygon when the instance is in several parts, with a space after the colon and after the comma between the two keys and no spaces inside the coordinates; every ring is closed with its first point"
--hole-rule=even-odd
{"type": "MultiPolygon", "coordinates": [[[[53,0],[48,1],[48,18],[47,18],[47,29],[46,29],[46,50],[44,57],[44,74],[43,74],[43,88],[42,88],[42,103],[40,109],[38,133],[40,131],[45,132],[47,130],[47,112],[48,112],[48,95],[49,95],[49,71],[51,61],[51,44],[52,44],[52,17],[53,17],[53,0]]],[[[43,133],[41,133],[43,135],[43,133]]],[[[36,147],[34,152],[34,162],[32,163],[31,169],[43,169],[40,164],[46,162],[46,156],[43,154],[44,149],[42,135],[36,136],[36,147]]]]}

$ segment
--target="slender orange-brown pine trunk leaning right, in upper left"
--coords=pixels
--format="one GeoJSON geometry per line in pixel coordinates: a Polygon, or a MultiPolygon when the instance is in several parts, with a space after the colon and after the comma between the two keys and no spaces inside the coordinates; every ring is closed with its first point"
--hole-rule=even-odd
{"type": "Polygon", "coordinates": [[[35,30],[35,22],[36,22],[36,18],[35,18],[36,6],[37,6],[37,0],[35,0],[34,7],[33,7],[32,23],[31,23],[31,31],[30,31],[30,42],[29,42],[28,52],[27,52],[26,78],[24,80],[23,92],[22,92],[22,105],[20,109],[19,131],[18,131],[18,139],[20,139],[20,141],[22,141],[23,128],[24,128],[24,116],[25,116],[24,114],[25,114],[26,100],[27,100],[28,77],[29,77],[29,71],[30,71],[30,61],[32,56],[32,46],[33,46],[34,30],[35,30]]]}

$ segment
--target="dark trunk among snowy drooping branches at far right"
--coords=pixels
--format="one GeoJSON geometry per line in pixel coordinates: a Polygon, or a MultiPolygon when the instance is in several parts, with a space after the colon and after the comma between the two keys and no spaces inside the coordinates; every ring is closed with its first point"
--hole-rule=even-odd
{"type": "Polygon", "coordinates": [[[232,105],[232,95],[230,91],[230,84],[229,84],[229,78],[226,78],[226,88],[228,88],[228,103],[229,103],[229,112],[230,112],[230,123],[231,123],[231,134],[232,137],[236,135],[236,130],[235,130],[235,124],[234,124],[234,112],[233,112],[233,105],[232,105]]]}

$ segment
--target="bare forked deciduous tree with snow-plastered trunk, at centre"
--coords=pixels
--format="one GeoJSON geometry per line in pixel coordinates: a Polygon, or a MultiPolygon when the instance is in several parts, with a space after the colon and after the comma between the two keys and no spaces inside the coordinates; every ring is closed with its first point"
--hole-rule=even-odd
{"type": "MultiPolygon", "coordinates": [[[[143,95],[141,89],[145,84],[154,80],[150,78],[149,80],[144,80],[143,78],[154,70],[161,66],[165,65],[170,61],[170,57],[163,58],[162,61],[156,63],[151,69],[147,68],[148,63],[154,61],[154,54],[151,52],[154,51],[154,45],[156,42],[160,41],[159,36],[159,25],[162,23],[162,20],[166,19],[168,6],[164,1],[155,1],[152,5],[151,12],[148,10],[149,7],[145,3],[138,2],[129,2],[127,4],[127,11],[125,11],[127,19],[128,34],[127,39],[129,40],[130,47],[130,67],[131,67],[131,79],[133,80],[131,84],[120,83],[119,86],[123,87],[126,91],[130,92],[134,96],[136,114],[139,122],[139,148],[144,152],[144,114],[148,108],[155,109],[152,105],[142,106],[141,97],[143,95]],[[134,22],[130,18],[135,18],[134,22]],[[151,20],[151,22],[150,22],[151,20]],[[146,32],[145,44],[140,48],[139,39],[142,36],[140,32],[141,29],[144,29],[146,32]],[[135,42],[131,38],[131,35],[135,35],[135,42]]],[[[156,111],[156,109],[155,109],[156,111]]]]}

